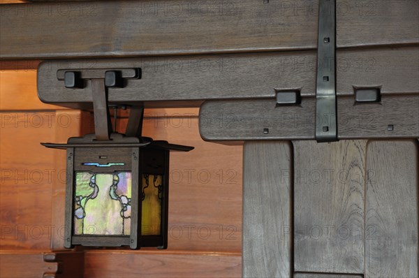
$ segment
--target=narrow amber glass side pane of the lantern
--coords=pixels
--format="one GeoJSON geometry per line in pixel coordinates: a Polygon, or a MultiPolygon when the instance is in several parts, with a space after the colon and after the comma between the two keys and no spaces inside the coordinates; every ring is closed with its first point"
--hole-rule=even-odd
{"type": "Polygon", "coordinates": [[[161,175],[142,175],[142,235],[161,234],[162,180],[161,175]]]}

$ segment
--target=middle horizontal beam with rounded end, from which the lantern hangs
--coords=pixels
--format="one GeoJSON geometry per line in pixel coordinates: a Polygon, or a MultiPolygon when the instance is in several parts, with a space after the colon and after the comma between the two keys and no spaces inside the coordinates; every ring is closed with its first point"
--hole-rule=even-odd
{"type": "MultiPolygon", "coordinates": [[[[330,61],[321,63],[330,66],[330,61]]],[[[45,61],[38,68],[41,100],[91,106],[91,82],[84,89],[66,89],[57,79],[59,69],[82,68],[141,68],[140,80],[108,89],[110,102],[125,104],[149,101],[148,106],[157,102],[169,107],[176,104],[170,101],[177,101],[187,107],[203,100],[270,98],[275,89],[299,90],[303,97],[316,93],[316,52],[299,51],[45,61]]],[[[383,95],[418,94],[418,68],[417,46],[338,50],[337,95],[353,96],[354,87],[380,87],[383,95]]]]}

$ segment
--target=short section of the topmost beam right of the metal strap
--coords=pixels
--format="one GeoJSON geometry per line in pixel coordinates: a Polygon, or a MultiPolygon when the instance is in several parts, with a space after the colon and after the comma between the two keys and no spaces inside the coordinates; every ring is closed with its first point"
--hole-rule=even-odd
{"type": "Polygon", "coordinates": [[[337,0],[337,47],[419,42],[416,0],[337,0]]]}

